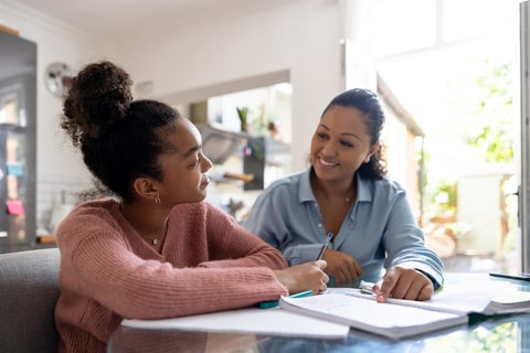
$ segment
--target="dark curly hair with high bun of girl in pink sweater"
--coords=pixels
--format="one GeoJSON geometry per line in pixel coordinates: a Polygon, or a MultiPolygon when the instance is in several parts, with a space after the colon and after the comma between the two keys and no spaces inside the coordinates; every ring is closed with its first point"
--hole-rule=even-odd
{"type": "Polygon", "coordinates": [[[88,64],[72,79],[61,118],[88,170],[124,202],[134,200],[136,178],[162,179],[159,156],[172,150],[166,137],[181,119],[163,103],[132,100],[131,85],[129,75],[112,62],[88,64]]]}

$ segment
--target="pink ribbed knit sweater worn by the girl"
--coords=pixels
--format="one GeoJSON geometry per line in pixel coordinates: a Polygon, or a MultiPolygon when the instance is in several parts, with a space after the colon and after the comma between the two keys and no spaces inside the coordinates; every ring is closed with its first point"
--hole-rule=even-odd
{"type": "Polygon", "coordinates": [[[114,200],[77,206],[57,231],[60,352],[105,352],[123,318],[161,319],[244,308],[287,289],[282,254],[206,203],[177,205],[161,254],[114,200]]]}

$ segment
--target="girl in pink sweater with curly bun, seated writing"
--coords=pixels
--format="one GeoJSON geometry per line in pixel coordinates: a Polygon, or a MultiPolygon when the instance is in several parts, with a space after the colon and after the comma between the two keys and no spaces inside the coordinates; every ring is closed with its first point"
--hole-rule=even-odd
{"type": "Polygon", "coordinates": [[[326,289],[326,261],[282,254],[204,202],[210,160],[171,107],[132,100],[110,62],[73,78],[62,127],[113,197],[80,204],[57,231],[61,352],[105,352],[123,318],[161,319],[250,307],[326,289]]]}

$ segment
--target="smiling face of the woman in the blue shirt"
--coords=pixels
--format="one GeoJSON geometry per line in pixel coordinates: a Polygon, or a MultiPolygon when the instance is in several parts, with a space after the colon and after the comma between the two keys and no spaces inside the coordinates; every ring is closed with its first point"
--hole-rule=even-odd
{"type": "Polygon", "coordinates": [[[379,149],[370,147],[365,117],[357,108],[335,106],[320,119],[311,139],[311,163],[319,179],[351,178],[379,149]]]}

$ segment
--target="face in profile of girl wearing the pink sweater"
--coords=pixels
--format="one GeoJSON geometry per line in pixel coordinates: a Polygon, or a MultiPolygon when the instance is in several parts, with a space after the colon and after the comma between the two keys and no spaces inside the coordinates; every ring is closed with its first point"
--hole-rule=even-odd
{"type": "Polygon", "coordinates": [[[210,183],[205,172],[212,162],[202,153],[202,138],[188,119],[180,119],[177,130],[169,135],[174,152],[159,159],[162,182],[158,189],[162,203],[178,204],[202,201],[210,183]]]}

